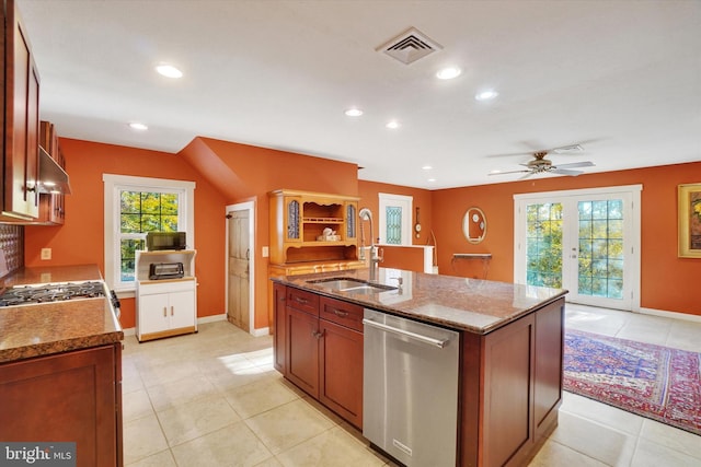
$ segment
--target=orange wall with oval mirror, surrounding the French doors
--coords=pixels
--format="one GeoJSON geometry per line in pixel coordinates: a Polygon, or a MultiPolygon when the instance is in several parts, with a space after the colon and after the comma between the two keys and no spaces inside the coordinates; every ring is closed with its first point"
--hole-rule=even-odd
{"type": "Polygon", "coordinates": [[[693,293],[701,260],[677,257],[677,186],[699,182],[701,162],[433,191],[440,272],[471,276],[455,272],[452,254],[491,253],[489,278],[513,281],[515,194],[641,184],[641,306],[701,315],[701,300],[693,293]],[[487,235],[479,245],[462,235],[462,217],[472,206],[487,219],[487,235]]]}

